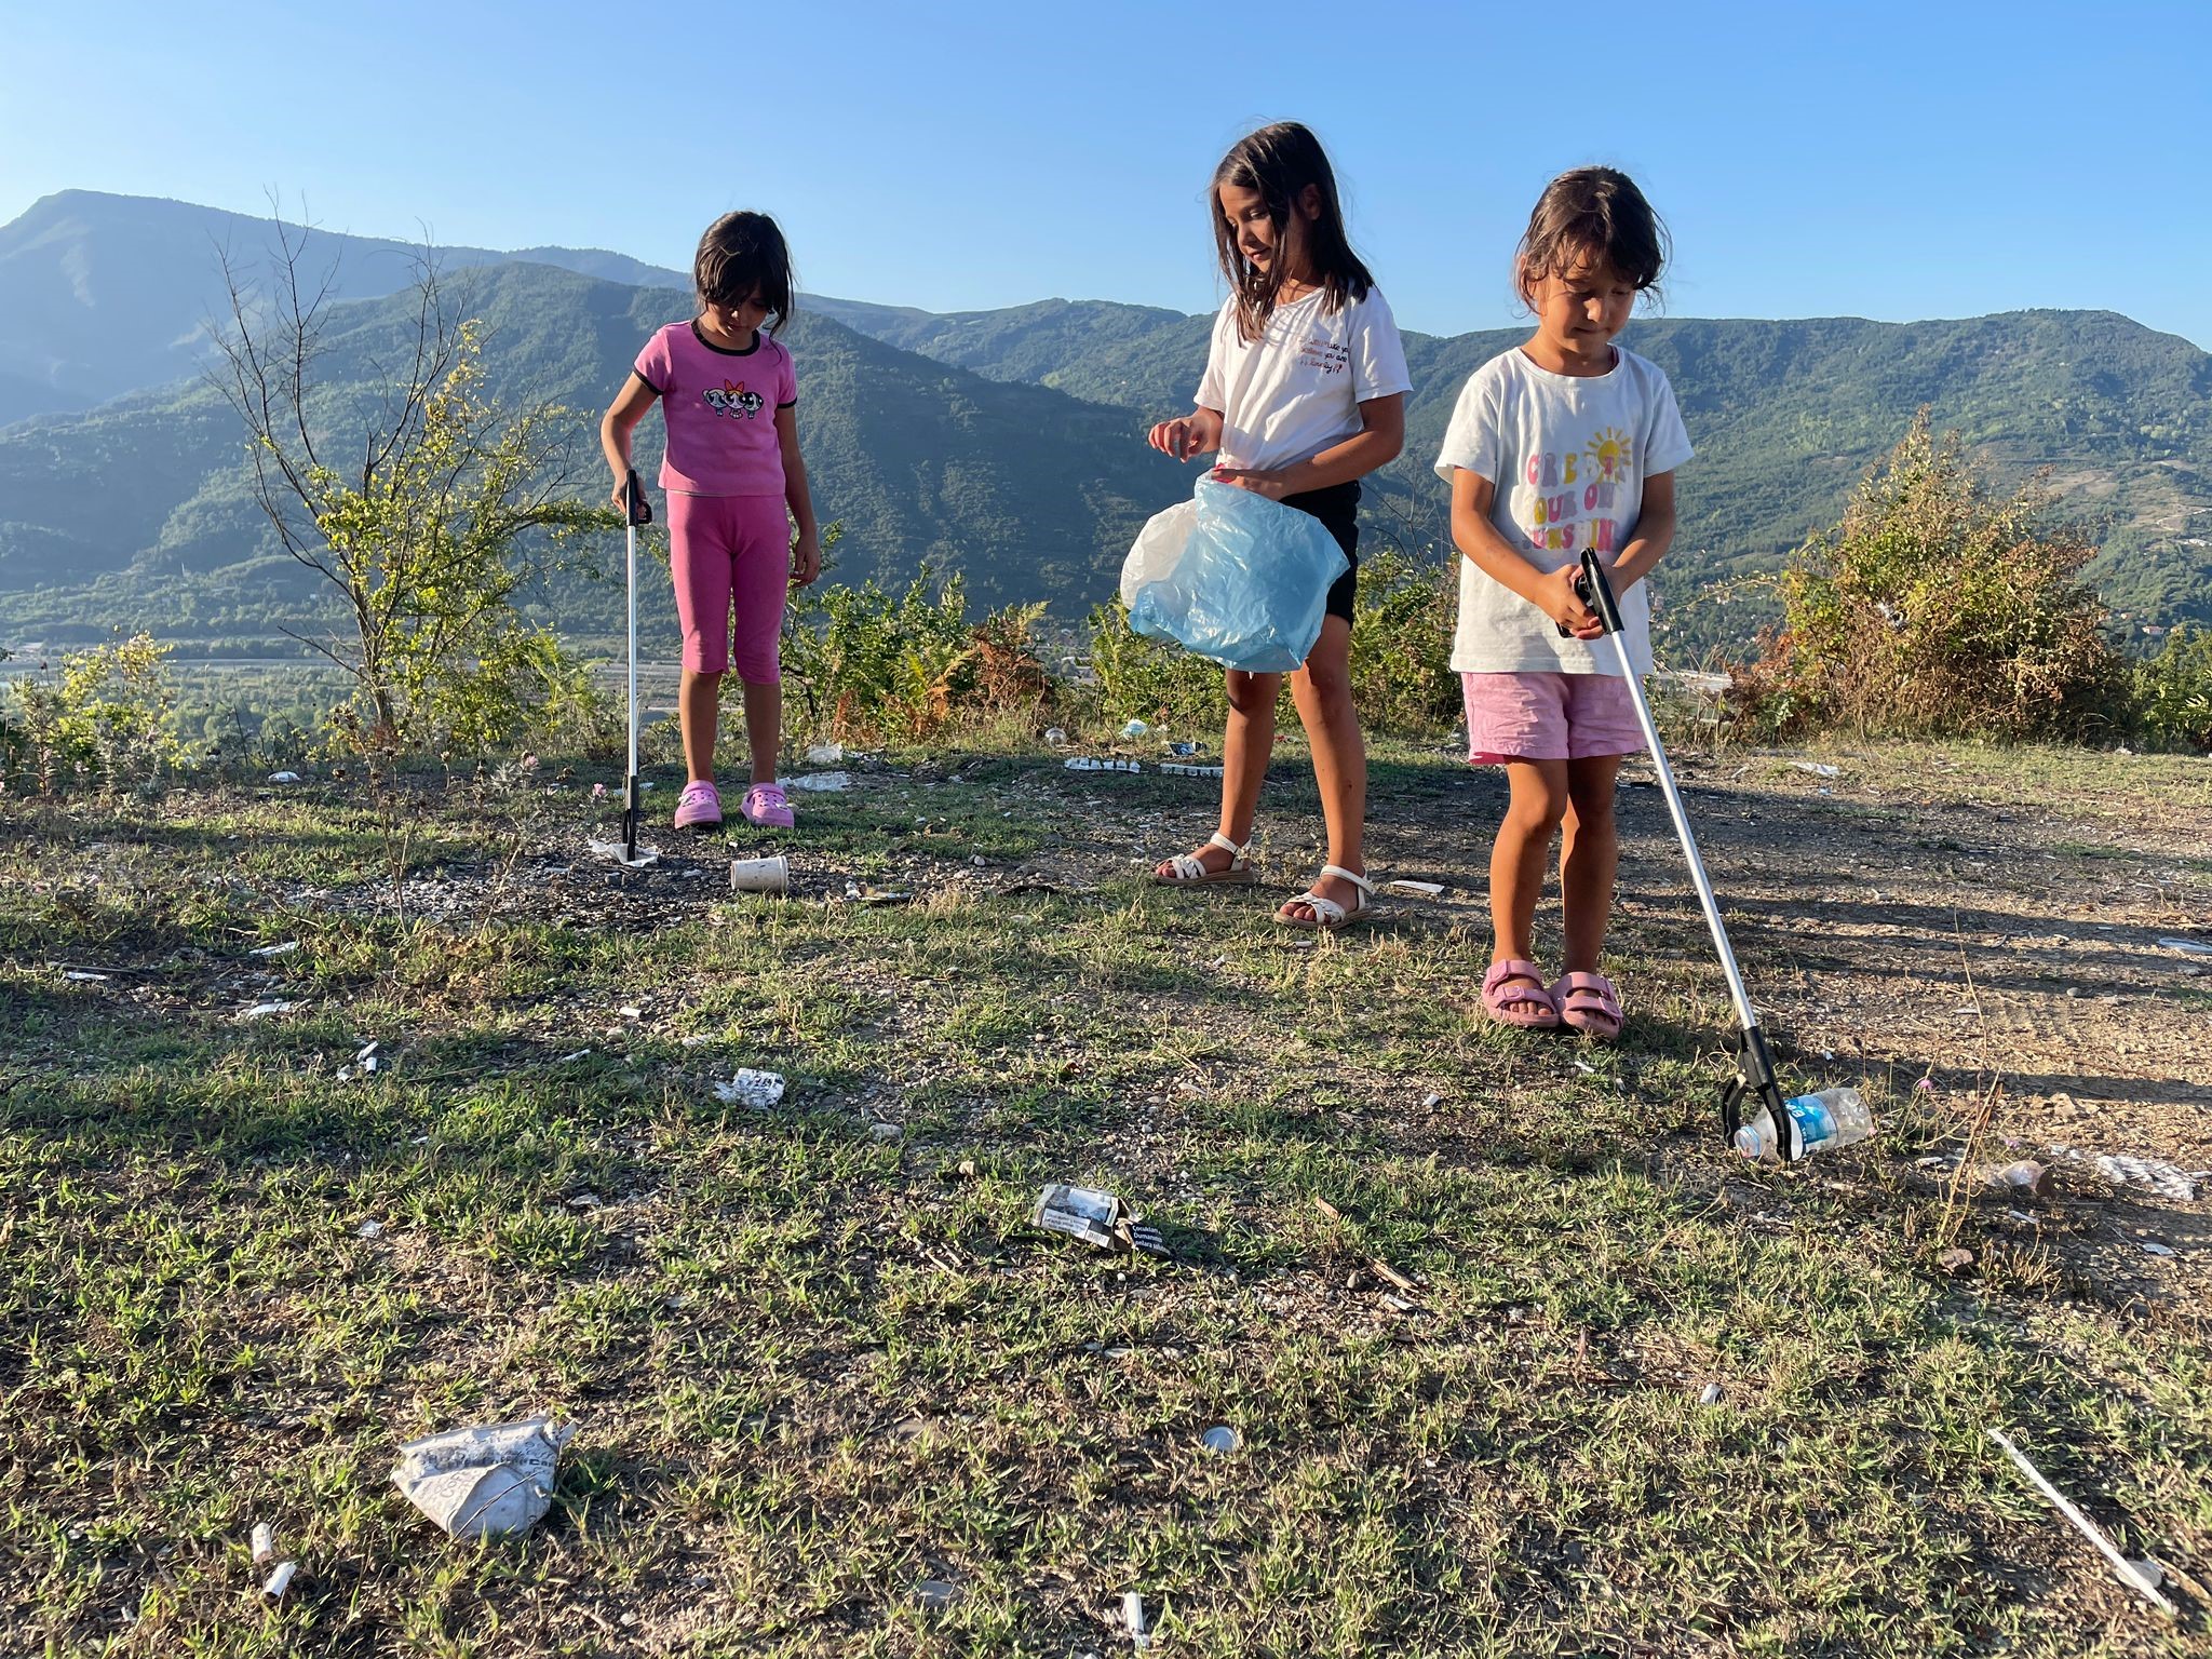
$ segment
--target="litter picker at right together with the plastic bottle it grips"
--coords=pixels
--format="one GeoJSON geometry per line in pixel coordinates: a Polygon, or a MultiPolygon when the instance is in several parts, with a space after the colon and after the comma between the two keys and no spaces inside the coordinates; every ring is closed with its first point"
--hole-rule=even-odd
{"type": "MultiPolygon", "coordinates": [[[[1697,836],[1690,832],[1690,814],[1681,805],[1681,790],[1674,787],[1674,768],[1668,765],[1666,745],[1659,741],[1659,728],[1652,723],[1644,681],[1637,679],[1635,664],[1628,661],[1628,644],[1621,639],[1621,608],[1613,597],[1613,582],[1595,549],[1582,555],[1575,597],[1597,613],[1606,637],[1613,639],[1621,677],[1628,681],[1628,701],[1635,703],[1637,726],[1644,728],[1644,743],[1652,752],[1652,770],[1659,772],[1659,787],[1666,792],[1666,810],[1674,818],[1681,856],[1690,865],[1690,885],[1697,887],[1697,902],[1705,907],[1712,949],[1721,958],[1728,995],[1736,1004],[1736,1075],[1721,1091],[1721,1135],[1741,1152],[1759,1157],[1772,1150],[1785,1161],[1796,1161],[1827,1146],[1849,1146],[1865,1139],[1874,1130],[1874,1119],[1867,1115],[1856,1088],[1829,1088],[1796,1099],[1783,1097],[1781,1082],[1774,1077],[1774,1057],[1767,1053],[1765,1033],[1759,1029],[1759,1009],[1752,1006],[1752,998],[1743,989],[1743,971],[1736,967],[1736,953],[1728,945],[1721,905],[1712,896],[1705,860],[1697,854],[1697,836]]],[[[1566,628],[1559,628],[1559,633],[1566,633],[1566,628]]]]}

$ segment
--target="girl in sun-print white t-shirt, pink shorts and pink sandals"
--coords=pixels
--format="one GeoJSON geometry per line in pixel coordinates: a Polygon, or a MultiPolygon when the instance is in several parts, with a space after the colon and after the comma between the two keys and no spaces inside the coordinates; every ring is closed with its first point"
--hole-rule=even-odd
{"type": "Polygon", "coordinates": [[[1593,650],[1601,626],[1573,582],[1595,546],[1621,602],[1621,644],[1650,672],[1641,584],[1674,540],[1674,469],[1690,438],[1666,376],[1613,336],[1663,263],[1666,230],[1626,175],[1553,179],[1513,265],[1535,334],[1469,376],[1436,458],[1467,555],[1451,641],[1467,759],[1502,763],[1511,790],[1491,849],[1498,940],[1482,980],[1482,1006],[1509,1026],[1621,1029],[1619,989],[1597,958],[1619,865],[1613,781],[1644,739],[1613,646],[1593,650]],[[1546,982],[1533,960],[1535,900],[1562,825],[1564,973],[1546,982]]]}

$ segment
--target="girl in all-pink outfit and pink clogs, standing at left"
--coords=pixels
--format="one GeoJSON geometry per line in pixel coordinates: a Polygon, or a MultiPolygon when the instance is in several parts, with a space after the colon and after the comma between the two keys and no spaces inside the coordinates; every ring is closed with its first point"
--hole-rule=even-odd
{"type": "Polygon", "coordinates": [[[668,422],[661,462],[668,568],[684,622],[677,712],[690,770],[675,823],[679,830],[721,823],[714,719],[721,677],[732,661],[734,608],[734,659],[745,681],[745,743],[752,750],[743,814],[750,823],[787,830],[792,803],[776,783],[783,745],[776,635],[785,591],[818,577],[823,555],[799,458],[799,383],[792,354],[776,338],[792,314],[792,254],[776,221],[765,212],[726,212],[708,226],[692,259],[692,288],[699,314],[646,341],[599,422],[599,447],[615,473],[615,507],[622,507],[630,431],[659,400],[668,422]]]}

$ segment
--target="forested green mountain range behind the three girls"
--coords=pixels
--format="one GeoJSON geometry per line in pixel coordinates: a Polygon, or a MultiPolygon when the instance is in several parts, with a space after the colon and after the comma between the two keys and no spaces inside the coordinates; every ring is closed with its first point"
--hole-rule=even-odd
{"type": "MultiPolygon", "coordinates": [[[[319,372],[343,425],[403,338],[420,250],[296,234],[301,268],[338,299],[319,372]]],[[[243,431],[204,378],[219,254],[265,272],[272,237],[261,219],[77,190],[0,226],[0,639],[153,626],[248,650],[314,626],[319,595],[259,524],[243,431]]],[[[688,314],[686,279],[571,248],[440,248],[438,265],[489,327],[493,389],[577,409],[577,480],[597,493],[591,420],[644,336],[688,314]]],[[[1208,327],[1113,301],[933,314],[805,296],[785,341],[816,502],[845,526],[838,577],[929,562],[984,602],[1071,617],[1106,597],[1137,524],[1188,491],[1190,469],[1141,431],[1188,409],[1208,327]]],[[[1444,544],[1429,462],[1460,383],[1517,338],[1407,334],[1407,451],[1371,480],[1369,538],[1444,544]]],[[[2051,471],[2097,522],[2095,575],[2135,626],[2212,619],[2212,356],[2188,341],[2110,312],[2011,312],[1646,316],[1624,343],[1668,372],[1699,449],[1661,577],[1686,648],[1750,648],[1765,608],[1723,580],[1774,568],[1832,522],[1922,405],[2000,476],[2051,471]]],[[[604,637],[617,595],[568,582],[540,602],[604,637]]]]}

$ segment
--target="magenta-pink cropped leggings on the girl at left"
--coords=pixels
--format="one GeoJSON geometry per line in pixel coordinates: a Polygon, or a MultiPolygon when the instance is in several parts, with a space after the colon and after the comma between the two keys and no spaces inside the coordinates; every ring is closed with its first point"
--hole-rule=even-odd
{"type": "Polygon", "coordinates": [[[668,491],[668,568],[677,580],[684,666],[695,675],[730,666],[734,606],[739,679],[776,684],[783,675],[776,635],[792,588],[792,524],[783,498],[668,491]]]}

